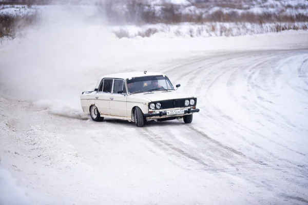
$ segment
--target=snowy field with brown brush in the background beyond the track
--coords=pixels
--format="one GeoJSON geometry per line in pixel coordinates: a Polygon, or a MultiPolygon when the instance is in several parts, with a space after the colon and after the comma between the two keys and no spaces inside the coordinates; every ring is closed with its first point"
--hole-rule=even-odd
{"type": "MultiPolygon", "coordinates": [[[[157,0],[142,1],[143,4],[140,7],[137,3],[129,4],[126,1],[110,2],[110,8],[103,4],[93,5],[89,2],[83,5],[68,4],[66,7],[75,12],[82,12],[83,15],[87,13],[88,18],[99,16],[102,22],[106,20],[109,30],[118,37],[131,38],[138,35],[149,37],[157,32],[183,37],[238,36],[308,28],[308,2],[304,0],[205,1],[202,4],[187,0],[157,0]],[[169,5],[168,3],[174,4],[174,7],[170,9],[166,6],[169,5]],[[106,19],[102,19],[104,16],[106,19]]],[[[26,22],[39,22],[39,14],[48,13],[57,7],[62,6],[0,5],[0,15],[30,15],[26,22]]],[[[20,25],[20,23],[15,24],[20,25]]],[[[17,36],[20,35],[18,26],[3,30],[3,33],[12,30],[7,34],[10,37],[15,37],[15,33],[17,36]]]]}

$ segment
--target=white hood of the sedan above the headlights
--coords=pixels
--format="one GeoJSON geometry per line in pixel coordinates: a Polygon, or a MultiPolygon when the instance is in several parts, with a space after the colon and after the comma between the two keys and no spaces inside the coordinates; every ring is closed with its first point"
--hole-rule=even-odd
{"type": "Polygon", "coordinates": [[[191,98],[192,95],[177,93],[176,91],[153,91],[148,93],[137,93],[130,95],[133,98],[147,99],[150,101],[162,101],[168,99],[191,98]]]}

